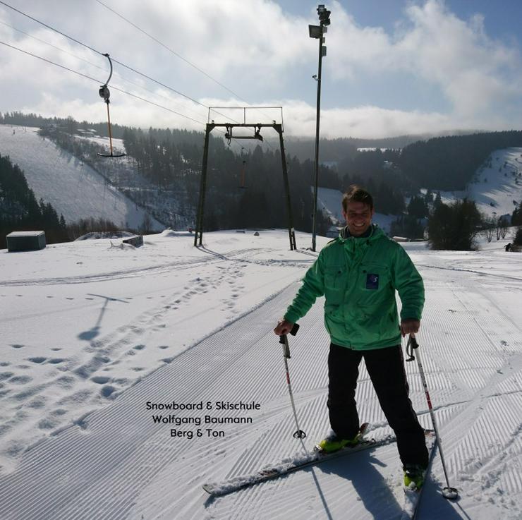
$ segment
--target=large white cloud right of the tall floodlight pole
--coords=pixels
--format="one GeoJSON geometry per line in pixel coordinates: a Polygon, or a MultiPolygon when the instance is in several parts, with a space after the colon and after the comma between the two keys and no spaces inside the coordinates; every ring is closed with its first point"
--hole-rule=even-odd
{"type": "Polygon", "coordinates": [[[405,15],[394,35],[387,35],[382,28],[358,27],[341,11],[330,44],[336,79],[372,74],[385,80],[387,73],[403,71],[437,86],[454,116],[467,118],[491,114],[499,102],[520,104],[518,49],[487,37],[482,16],[461,20],[442,0],[408,6],[405,15]]]}

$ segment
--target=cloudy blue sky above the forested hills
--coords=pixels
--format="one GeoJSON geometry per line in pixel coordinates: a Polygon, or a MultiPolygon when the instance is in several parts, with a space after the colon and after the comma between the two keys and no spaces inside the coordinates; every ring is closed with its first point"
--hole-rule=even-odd
{"type": "MultiPolygon", "coordinates": [[[[519,0],[325,5],[332,23],[322,137],[522,128],[519,0]]],[[[286,135],[312,137],[318,40],[308,25],[318,23],[316,8],[308,0],[2,0],[0,42],[92,79],[0,44],[0,111],[104,121],[98,88],[109,53],[120,62],[109,82],[114,123],[202,131],[208,107],[269,106],[283,107],[286,135]]],[[[243,118],[279,122],[281,111],[211,115],[220,123],[243,118]]]]}

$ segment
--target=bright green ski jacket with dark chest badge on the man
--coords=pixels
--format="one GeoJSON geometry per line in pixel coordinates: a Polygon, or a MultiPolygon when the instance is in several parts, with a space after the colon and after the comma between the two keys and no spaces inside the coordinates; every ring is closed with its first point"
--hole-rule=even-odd
{"type": "Polygon", "coordinates": [[[394,346],[401,343],[395,291],[401,318],[420,320],[423,279],[406,251],[375,225],[367,238],[346,238],[344,229],[306,272],[284,319],[297,322],[324,295],[324,326],[332,343],[354,350],[394,346]]]}

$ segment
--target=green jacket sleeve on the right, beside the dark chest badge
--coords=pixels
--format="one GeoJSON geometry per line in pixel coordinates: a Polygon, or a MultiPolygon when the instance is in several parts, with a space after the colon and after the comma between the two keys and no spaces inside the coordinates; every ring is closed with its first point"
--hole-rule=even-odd
{"type": "Polygon", "coordinates": [[[420,320],[424,307],[424,283],[408,253],[401,247],[396,248],[394,262],[394,287],[401,298],[401,319],[420,320]]]}

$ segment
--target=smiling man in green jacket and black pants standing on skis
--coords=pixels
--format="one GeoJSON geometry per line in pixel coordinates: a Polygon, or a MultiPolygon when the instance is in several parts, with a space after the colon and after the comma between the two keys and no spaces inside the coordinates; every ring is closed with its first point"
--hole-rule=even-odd
{"type": "Polygon", "coordinates": [[[318,447],[334,452],[360,440],[355,394],[364,358],[382,411],[396,435],[404,483],[420,488],[428,452],[424,430],[408,397],[401,334],[418,332],[423,279],[402,246],[372,224],[370,193],[350,186],[342,207],[346,227],[321,250],[274,332],[288,334],[317,297],[326,297],[324,325],[331,339],[327,406],[332,431],[318,447]],[[395,291],[402,303],[400,325],[395,291]]]}

